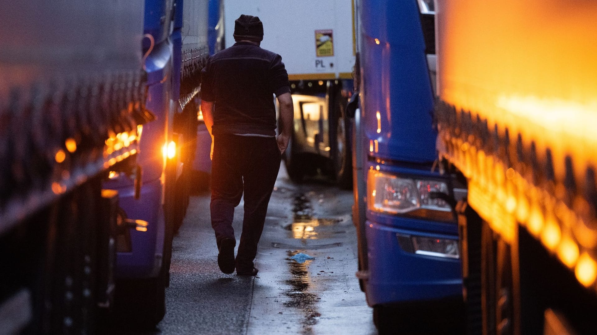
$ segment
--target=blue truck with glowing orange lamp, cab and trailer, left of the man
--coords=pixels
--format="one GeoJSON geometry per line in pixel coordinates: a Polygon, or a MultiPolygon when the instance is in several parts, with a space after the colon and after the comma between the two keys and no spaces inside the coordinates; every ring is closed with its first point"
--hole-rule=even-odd
{"type": "Polygon", "coordinates": [[[114,315],[122,324],[152,328],[165,314],[173,237],[189,204],[208,1],[146,0],[144,13],[146,108],[156,120],[140,128],[142,185],[133,173],[110,171],[104,188],[118,191],[121,221],[131,222],[116,240],[114,315]]]}

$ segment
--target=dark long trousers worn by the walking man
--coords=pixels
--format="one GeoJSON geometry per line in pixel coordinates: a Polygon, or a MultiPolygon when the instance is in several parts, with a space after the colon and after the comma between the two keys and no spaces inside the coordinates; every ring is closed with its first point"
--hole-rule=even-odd
{"type": "Polygon", "coordinates": [[[215,135],[211,165],[211,227],[220,246],[234,237],[234,208],[244,193],[245,216],[236,268],[253,269],[267,204],[278,176],[281,154],[273,137],[215,135]]]}

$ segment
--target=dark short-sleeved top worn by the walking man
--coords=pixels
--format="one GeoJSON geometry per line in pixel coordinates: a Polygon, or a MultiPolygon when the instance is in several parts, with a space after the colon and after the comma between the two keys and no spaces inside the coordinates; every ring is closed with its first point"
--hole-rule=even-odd
{"type": "Polygon", "coordinates": [[[201,76],[201,99],[215,102],[213,135],[276,134],[273,94],[290,92],[280,55],[237,42],[211,56],[201,76]]]}

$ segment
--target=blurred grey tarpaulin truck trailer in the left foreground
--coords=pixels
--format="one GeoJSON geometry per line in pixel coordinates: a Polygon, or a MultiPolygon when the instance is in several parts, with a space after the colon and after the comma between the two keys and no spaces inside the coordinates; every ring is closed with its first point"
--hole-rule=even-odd
{"type": "Polygon", "coordinates": [[[143,1],[17,0],[0,17],[0,333],[93,332],[122,224],[101,181],[134,169],[153,119],[143,1]]]}

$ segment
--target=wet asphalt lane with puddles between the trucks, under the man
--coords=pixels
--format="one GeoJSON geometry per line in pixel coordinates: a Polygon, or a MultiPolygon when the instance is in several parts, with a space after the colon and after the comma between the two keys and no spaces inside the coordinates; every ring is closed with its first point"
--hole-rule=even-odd
{"type": "MultiPolygon", "coordinates": [[[[358,280],[350,191],[324,179],[293,184],[280,169],[259,244],[257,277],[217,265],[210,195],[193,196],[174,238],[167,312],[155,331],[174,334],[377,334],[358,280]],[[315,259],[290,260],[297,253],[315,259]]],[[[235,235],[241,234],[241,204],[235,235]]]]}

